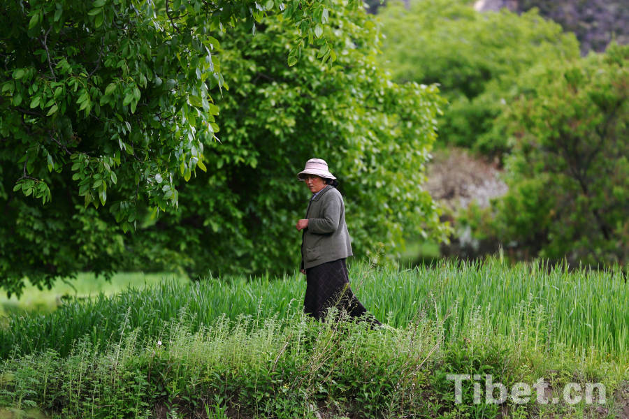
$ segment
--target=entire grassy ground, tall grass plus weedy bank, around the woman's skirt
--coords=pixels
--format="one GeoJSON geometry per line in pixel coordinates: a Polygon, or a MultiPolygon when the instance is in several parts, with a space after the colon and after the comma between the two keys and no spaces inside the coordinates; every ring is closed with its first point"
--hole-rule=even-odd
{"type": "Polygon", "coordinates": [[[409,270],[354,263],[354,292],[396,328],[375,331],[308,321],[301,274],[156,278],[66,299],[46,314],[10,315],[0,328],[0,406],[75,418],[310,418],[313,406],[330,418],[498,418],[504,409],[613,418],[629,391],[629,286],[620,270],[497,259],[409,270]],[[468,383],[458,405],[450,373],[505,384],[546,377],[556,389],[600,381],[613,397],[598,407],[475,405],[468,383]]]}

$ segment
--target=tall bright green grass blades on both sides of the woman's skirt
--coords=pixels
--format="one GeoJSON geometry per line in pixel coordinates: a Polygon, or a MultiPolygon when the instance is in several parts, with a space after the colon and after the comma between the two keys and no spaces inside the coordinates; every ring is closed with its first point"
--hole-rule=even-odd
{"type": "MultiPolygon", "coordinates": [[[[629,284],[619,269],[567,272],[493,259],[408,270],[353,263],[350,280],[363,304],[394,327],[427,318],[442,324],[446,339],[455,339],[470,332],[472,319],[482,318],[492,333],[535,347],[629,361],[629,284]]],[[[301,311],[304,292],[301,274],[129,288],[115,297],[69,301],[50,314],[10,317],[0,328],[0,356],[47,348],[66,355],[81,337],[102,347],[120,339],[123,328],[137,330],[139,339],[158,337],[182,310],[191,314],[191,331],[221,316],[287,318],[301,311]]]]}

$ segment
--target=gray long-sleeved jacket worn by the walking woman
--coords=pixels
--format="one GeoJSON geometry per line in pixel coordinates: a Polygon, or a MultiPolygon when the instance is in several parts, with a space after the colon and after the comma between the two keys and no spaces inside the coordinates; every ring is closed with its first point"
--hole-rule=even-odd
{"type": "Polygon", "coordinates": [[[310,200],[303,230],[301,266],[303,269],[352,256],[352,244],[345,224],[345,204],[340,192],[326,186],[310,200]]]}

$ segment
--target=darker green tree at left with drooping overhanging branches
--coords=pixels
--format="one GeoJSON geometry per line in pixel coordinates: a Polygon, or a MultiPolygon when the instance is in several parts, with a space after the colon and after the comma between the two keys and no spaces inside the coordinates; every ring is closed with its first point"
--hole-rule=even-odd
{"type": "MultiPolygon", "coordinates": [[[[224,91],[215,38],[280,10],[294,64],[332,1],[10,1],[0,14],[0,284],[111,272],[146,207],[205,170],[224,91]],[[212,36],[213,35],[213,36],[212,36]],[[36,204],[41,200],[41,205],[36,204]],[[106,211],[96,213],[101,205],[106,211]],[[115,222],[114,222],[115,221],[115,222]]],[[[350,1],[348,7],[359,7],[350,1]]],[[[328,54],[330,57],[332,52],[328,54]]]]}

